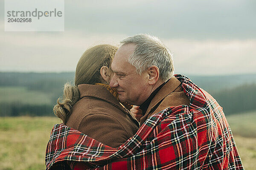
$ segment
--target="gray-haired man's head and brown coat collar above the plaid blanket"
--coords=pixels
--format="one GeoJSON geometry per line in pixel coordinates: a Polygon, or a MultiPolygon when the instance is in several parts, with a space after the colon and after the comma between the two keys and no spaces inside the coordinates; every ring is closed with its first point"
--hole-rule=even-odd
{"type": "Polygon", "coordinates": [[[139,34],[121,43],[111,65],[110,86],[117,89],[120,101],[140,106],[140,125],[165,108],[189,105],[181,82],[173,76],[172,54],[160,40],[139,34]]]}

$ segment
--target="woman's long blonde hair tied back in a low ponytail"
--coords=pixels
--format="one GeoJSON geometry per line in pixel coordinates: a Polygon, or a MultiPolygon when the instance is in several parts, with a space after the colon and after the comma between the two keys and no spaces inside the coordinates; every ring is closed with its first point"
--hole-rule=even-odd
{"type": "Polygon", "coordinates": [[[80,93],[78,85],[95,84],[102,82],[100,69],[102,66],[110,68],[112,59],[117,51],[117,47],[113,45],[96,45],[87,49],[79,59],[76,65],[75,85],[67,82],[64,85],[63,96],[58,98],[57,104],[53,108],[53,112],[63,123],[67,123],[67,119],[71,114],[71,108],[79,100],[80,93]]]}

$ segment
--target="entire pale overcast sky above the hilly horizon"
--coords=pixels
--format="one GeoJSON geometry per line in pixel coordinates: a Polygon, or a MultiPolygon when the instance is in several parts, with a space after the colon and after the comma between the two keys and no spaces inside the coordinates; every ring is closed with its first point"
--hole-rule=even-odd
{"type": "Polygon", "coordinates": [[[93,45],[149,33],[174,53],[183,74],[256,73],[255,0],[65,0],[65,31],[4,31],[0,71],[75,71],[93,45]]]}

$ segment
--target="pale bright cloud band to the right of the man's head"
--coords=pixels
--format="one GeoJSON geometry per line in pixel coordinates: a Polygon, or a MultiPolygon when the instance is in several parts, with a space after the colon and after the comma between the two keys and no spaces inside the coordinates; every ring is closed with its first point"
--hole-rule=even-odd
{"type": "Polygon", "coordinates": [[[176,73],[256,73],[256,40],[164,40],[174,53],[176,73]]]}

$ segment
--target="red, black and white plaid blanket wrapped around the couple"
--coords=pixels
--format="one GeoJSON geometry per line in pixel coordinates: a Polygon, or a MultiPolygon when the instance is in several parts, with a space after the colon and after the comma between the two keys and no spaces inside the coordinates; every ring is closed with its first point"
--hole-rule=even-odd
{"type": "Polygon", "coordinates": [[[189,107],[152,115],[118,148],[57,124],[47,144],[46,169],[243,170],[221,106],[188,77],[175,77],[190,99],[189,107]]]}

